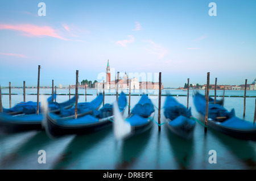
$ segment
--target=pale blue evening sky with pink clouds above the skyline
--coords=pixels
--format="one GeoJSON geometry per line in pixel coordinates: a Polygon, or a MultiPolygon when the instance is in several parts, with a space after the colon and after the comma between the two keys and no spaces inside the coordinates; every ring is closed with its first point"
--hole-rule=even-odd
{"type": "Polygon", "coordinates": [[[210,72],[210,84],[251,83],[255,7],[254,0],[0,1],[0,85],[36,86],[38,65],[40,86],[75,85],[76,70],[79,82],[102,82],[108,60],[112,79],[119,71],[158,82],[161,72],[164,87],[183,87],[188,78],[205,84],[210,72]]]}

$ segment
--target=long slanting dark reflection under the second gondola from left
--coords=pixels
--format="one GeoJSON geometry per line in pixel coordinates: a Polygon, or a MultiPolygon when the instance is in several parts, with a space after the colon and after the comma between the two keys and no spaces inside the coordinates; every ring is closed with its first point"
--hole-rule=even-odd
{"type": "Polygon", "coordinates": [[[111,132],[112,128],[106,128],[91,134],[77,135],[53,163],[52,169],[70,169],[82,154],[93,149],[93,146],[99,144],[111,132]]]}

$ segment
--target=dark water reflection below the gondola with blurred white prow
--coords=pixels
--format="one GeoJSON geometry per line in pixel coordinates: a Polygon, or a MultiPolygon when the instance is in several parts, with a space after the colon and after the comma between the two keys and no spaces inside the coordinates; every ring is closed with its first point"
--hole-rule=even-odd
{"type": "Polygon", "coordinates": [[[133,169],[140,159],[140,155],[150,140],[151,130],[138,134],[122,142],[119,160],[115,169],[133,169]]]}

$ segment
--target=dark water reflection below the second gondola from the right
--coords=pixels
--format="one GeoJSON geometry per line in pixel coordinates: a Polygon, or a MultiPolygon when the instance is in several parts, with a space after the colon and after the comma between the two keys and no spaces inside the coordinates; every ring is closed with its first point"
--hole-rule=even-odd
{"type": "Polygon", "coordinates": [[[191,140],[185,140],[164,127],[167,132],[167,137],[170,142],[174,157],[179,163],[177,169],[191,169],[191,159],[194,153],[194,138],[191,140]]]}

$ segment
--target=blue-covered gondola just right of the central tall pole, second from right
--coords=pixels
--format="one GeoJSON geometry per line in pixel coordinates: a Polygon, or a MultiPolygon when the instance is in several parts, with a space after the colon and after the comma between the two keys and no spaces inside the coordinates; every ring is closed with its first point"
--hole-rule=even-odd
{"type": "Polygon", "coordinates": [[[187,108],[168,95],[164,103],[164,116],[167,127],[178,136],[190,139],[196,126],[192,119],[191,108],[187,108]]]}

